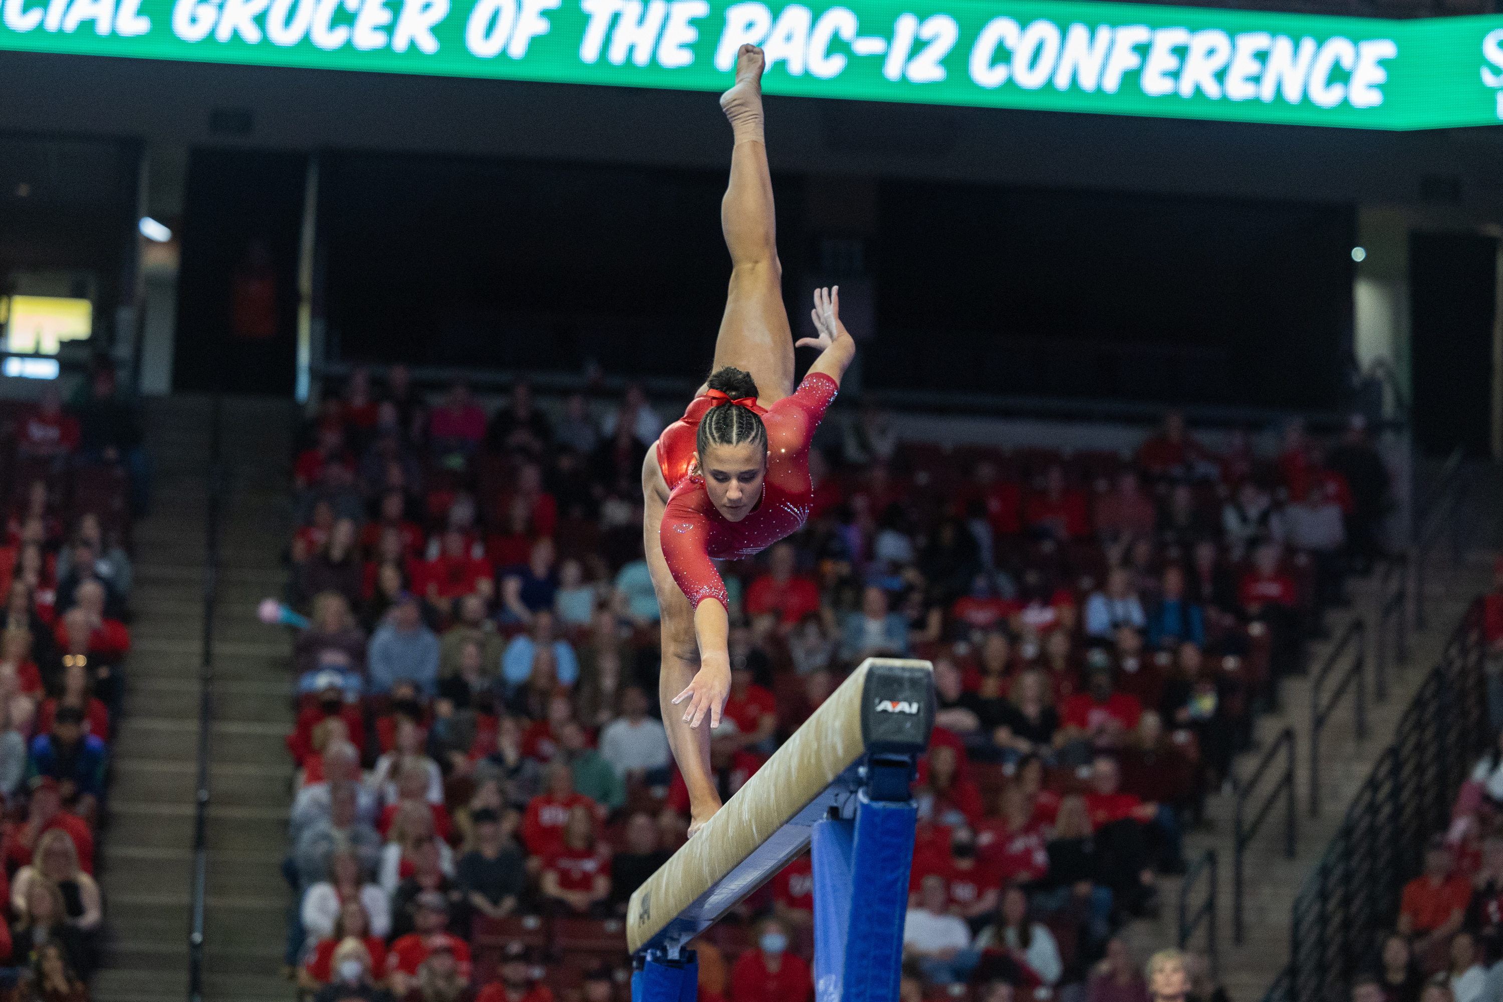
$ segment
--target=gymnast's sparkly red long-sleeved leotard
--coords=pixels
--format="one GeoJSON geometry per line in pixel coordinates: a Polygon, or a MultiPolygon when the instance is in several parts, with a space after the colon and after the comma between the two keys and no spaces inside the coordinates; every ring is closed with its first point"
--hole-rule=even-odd
{"type": "Polygon", "coordinates": [[[699,419],[714,401],[696,397],[684,416],[663,431],[657,443],[658,466],[673,493],[663,512],[658,539],[663,542],[667,569],[694,608],[706,598],[730,607],[712,559],[759,553],[797,532],[809,518],[813,503],[809,443],[837,391],[836,380],[824,373],[810,373],[792,397],[785,397],[767,410],[755,409],[767,425],[767,478],[762,482],[762,500],[741,521],[726,521],[705,493],[705,479],[688,472],[699,419]]]}

